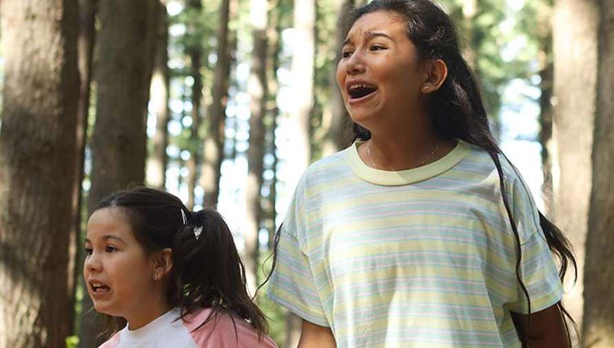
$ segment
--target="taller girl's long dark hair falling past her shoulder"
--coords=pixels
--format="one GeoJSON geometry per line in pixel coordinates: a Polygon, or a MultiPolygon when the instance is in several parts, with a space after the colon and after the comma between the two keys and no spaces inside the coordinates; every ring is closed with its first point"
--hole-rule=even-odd
{"type": "MultiPolygon", "coordinates": [[[[448,15],[435,3],[429,0],[374,0],[371,3],[355,10],[348,23],[346,30],[354,25],[360,17],[371,12],[392,12],[398,14],[405,21],[407,37],[416,46],[420,59],[434,61],[442,59],[447,65],[448,76],[441,88],[431,94],[428,114],[433,124],[433,129],[441,136],[453,139],[462,139],[482,147],[491,156],[497,172],[501,187],[502,200],[513,229],[516,240],[516,278],[520,283],[522,292],[529,303],[531,314],[531,299],[526,286],[520,277],[520,238],[518,227],[512,217],[510,204],[507,199],[505,179],[500,163],[500,156],[509,160],[497,145],[490,127],[489,120],[484,110],[484,103],[478,90],[478,84],[469,65],[462,58],[458,43],[458,34],[448,15]]],[[[371,138],[368,130],[354,123],[354,139],[367,140],[371,138]]],[[[576,270],[575,258],[569,240],[544,214],[539,212],[540,225],[544,231],[546,241],[551,252],[560,260],[559,276],[561,279],[566,274],[567,267],[571,263],[576,270]]],[[[564,309],[562,303],[557,303],[562,314],[568,318],[576,329],[575,322],[564,309]]],[[[515,318],[515,322],[518,318],[515,318]]],[[[522,342],[522,347],[528,347],[529,333],[522,330],[521,325],[516,325],[522,342]]],[[[565,321],[566,333],[569,337],[569,327],[565,321]]]]}

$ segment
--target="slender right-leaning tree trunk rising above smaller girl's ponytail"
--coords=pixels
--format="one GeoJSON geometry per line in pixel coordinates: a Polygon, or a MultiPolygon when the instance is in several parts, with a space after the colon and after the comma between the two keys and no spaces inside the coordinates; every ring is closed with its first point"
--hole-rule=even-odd
{"type": "Polygon", "coordinates": [[[217,63],[214,70],[213,103],[209,112],[207,139],[203,153],[201,186],[205,190],[203,205],[216,207],[220,192],[221,166],[224,158],[225,119],[232,46],[234,35],[229,32],[229,19],[236,14],[237,0],[223,0],[220,8],[220,26],[217,37],[217,63]]]}

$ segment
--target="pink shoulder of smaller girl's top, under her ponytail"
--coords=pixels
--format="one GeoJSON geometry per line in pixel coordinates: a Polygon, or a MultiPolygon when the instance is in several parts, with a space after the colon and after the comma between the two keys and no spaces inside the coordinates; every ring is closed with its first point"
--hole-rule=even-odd
{"type": "Polygon", "coordinates": [[[258,338],[256,330],[249,323],[227,310],[214,313],[210,308],[200,309],[187,316],[184,325],[198,348],[277,347],[266,335],[258,338]]]}

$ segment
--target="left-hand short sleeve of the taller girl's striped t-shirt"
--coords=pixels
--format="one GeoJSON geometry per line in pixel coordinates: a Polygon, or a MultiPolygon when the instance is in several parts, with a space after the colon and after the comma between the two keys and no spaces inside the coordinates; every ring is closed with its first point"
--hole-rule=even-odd
{"type": "Polygon", "coordinates": [[[267,296],[310,323],[329,327],[313,265],[300,247],[300,240],[307,238],[302,187],[303,181],[297,187],[279,232],[276,266],[267,296]]]}

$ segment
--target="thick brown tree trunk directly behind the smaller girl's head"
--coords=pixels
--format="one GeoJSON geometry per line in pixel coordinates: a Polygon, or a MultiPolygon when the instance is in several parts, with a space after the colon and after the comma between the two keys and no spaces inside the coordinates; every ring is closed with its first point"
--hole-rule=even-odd
{"type": "MultiPolygon", "coordinates": [[[[147,102],[157,13],[154,0],[100,3],[90,212],[108,194],[145,181],[147,102]]],[[[89,296],[83,296],[83,311],[91,307],[89,296]]],[[[99,343],[96,336],[101,326],[94,318],[93,311],[82,317],[80,347],[99,343]]]]}

